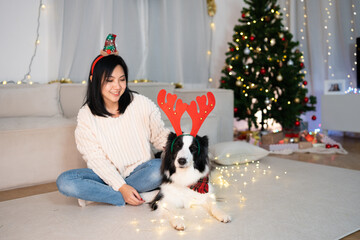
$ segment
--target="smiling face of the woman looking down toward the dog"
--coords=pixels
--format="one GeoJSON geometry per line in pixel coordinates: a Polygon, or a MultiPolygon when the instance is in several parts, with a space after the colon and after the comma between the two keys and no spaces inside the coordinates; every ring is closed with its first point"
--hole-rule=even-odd
{"type": "Polygon", "coordinates": [[[118,106],[118,101],[126,89],[126,78],[123,68],[117,65],[110,77],[103,79],[101,95],[106,107],[118,106]]]}

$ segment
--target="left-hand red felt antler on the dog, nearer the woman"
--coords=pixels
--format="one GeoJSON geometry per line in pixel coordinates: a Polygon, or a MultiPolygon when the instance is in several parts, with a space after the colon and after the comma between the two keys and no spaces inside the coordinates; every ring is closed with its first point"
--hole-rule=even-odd
{"type": "Polygon", "coordinates": [[[158,105],[164,111],[166,116],[169,118],[171,125],[175,130],[176,135],[180,136],[182,134],[180,120],[188,105],[186,103],[183,103],[181,99],[178,99],[176,101],[177,99],[176,94],[169,93],[167,95],[167,102],[165,102],[165,96],[166,96],[166,90],[165,89],[160,90],[157,97],[158,105]],[[176,101],[176,108],[174,111],[175,101],[176,101]]]}

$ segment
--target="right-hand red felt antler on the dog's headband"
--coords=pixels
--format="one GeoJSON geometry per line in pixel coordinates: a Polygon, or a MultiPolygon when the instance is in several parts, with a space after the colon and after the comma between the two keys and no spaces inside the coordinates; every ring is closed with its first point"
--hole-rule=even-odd
{"type": "Polygon", "coordinates": [[[197,106],[195,101],[191,101],[190,105],[187,108],[187,112],[189,113],[192,119],[192,128],[190,135],[196,137],[196,134],[199,132],[199,129],[207,116],[215,107],[215,96],[212,92],[207,93],[208,104],[206,104],[206,96],[202,95],[201,97],[196,97],[196,101],[199,104],[199,110],[197,111],[197,106]]]}

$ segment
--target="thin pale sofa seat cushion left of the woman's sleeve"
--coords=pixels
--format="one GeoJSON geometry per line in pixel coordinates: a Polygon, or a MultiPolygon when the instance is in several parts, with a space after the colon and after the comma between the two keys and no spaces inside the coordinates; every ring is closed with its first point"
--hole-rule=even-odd
{"type": "Polygon", "coordinates": [[[0,118],[0,132],[24,131],[76,126],[76,119],[64,117],[17,117],[0,118]]]}

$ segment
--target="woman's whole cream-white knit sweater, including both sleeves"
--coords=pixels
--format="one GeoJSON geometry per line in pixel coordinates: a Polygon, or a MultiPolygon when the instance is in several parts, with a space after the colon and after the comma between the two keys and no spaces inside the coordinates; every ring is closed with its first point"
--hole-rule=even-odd
{"type": "Polygon", "coordinates": [[[83,106],[77,117],[75,139],[88,168],[115,191],[140,164],[152,159],[151,144],[163,150],[169,135],[159,108],[147,97],[133,94],[124,114],[99,117],[83,106]]]}

